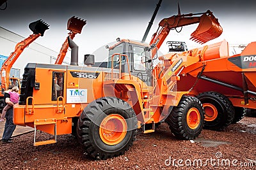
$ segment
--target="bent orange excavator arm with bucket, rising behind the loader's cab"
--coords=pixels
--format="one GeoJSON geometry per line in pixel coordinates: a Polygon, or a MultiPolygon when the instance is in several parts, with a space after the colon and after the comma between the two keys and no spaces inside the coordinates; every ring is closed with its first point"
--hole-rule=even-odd
{"type": "MultiPolygon", "coordinates": [[[[155,45],[157,48],[163,44],[164,39],[168,36],[172,29],[177,29],[177,27],[183,27],[186,25],[199,23],[196,30],[191,34],[193,41],[197,43],[206,43],[211,39],[217,38],[222,33],[222,27],[218,22],[218,19],[212,15],[211,11],[206,11],[205,13],[189,13],[182,14],[180,12],[178,15],[173,15],[169,18],[164,18],[159,22],[159,27],[157,32],[153,34],[150,41],[150,45],[155,45]],[[194,17],[195,15],[201,15],[200,17],[194,17]]],[[[152,57],[156,55],[157,49],[152,50],[152,57]]]]}

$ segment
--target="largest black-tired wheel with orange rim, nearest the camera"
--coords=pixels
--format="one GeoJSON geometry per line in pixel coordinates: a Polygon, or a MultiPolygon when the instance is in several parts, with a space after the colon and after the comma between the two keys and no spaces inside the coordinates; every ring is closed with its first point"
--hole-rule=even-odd
{"type": "Polygon", "coordinates": [[[115,97],[102,97],[84,108],[77,122],[77,138],[86,153],[95,159],[105,160],[129,150],[135,140],[137,127],[136,114],[128,103],[115,97]],[[125,127],[125,132],[116,131],[125,127]],[[123,138],[119,138],[119,135],[123,138]],[[108,140],[114,138],[117,140],[108,140]]]}

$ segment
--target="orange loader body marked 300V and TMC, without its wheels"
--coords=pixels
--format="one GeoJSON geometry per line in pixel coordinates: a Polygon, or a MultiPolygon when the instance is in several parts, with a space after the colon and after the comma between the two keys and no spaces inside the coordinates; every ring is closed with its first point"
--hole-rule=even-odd
{"type": "MultiPolygon", "coordinates": [[[[129,46],[131,43],[134,46],[143,45],[126,39],[118,45],[129,46]]],[[[147,55],[149,59],[150,52],[147,55]]],[[[113,53],[109,62],[118,57],[126,57],[125,65],[134,67],[128,52],[127,55],[113,53]]],[[[110,65],[109,68],[100,68],[30,63],[25,68],[20,103],[14,107],[13,122],[30,127],[37,124],[36,129],[50,134],[54,134],[54,122],[57,134],[69,134],[72,132],[72,118],[78,118],[89,103],[104,96],[118,97],[129,103],[138,117],[139,127],[160,122],[170,113],[170,106],[177,106],[180,98],[188,94],[188,91],[173,90],[176,81],[179,81],[179,69],[190,66],[199,58],[182,56],[180,60],[166,64],[166,71],[156,66],[150,85],[143,82],[140,76],[135,76],[137,72],[134,69],[131,73],[130,68],[123,72],[122,68],[110,65]]]]}

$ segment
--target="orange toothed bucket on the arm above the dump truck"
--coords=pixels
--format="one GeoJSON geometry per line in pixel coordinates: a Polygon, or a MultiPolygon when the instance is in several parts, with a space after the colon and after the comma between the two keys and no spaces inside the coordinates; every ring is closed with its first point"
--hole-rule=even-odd
{"type": "Polygon", "coordinates": [[[218,38],[222,33],[222,27],[211,13],[206,13],[200,18],[200,22],[196,30],[191,34],[191,38],[196,43],[204,44],[211,39],[218,38]]]}

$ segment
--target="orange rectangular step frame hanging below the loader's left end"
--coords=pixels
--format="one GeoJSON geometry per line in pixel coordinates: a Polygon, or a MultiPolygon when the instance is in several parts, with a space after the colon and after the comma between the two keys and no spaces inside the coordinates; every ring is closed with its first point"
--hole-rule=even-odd
{"type": "Polygon", "coordinates": [[[34,121],[35,127],[35,136],[34,136],[34,146],[47,145],[57,142],[57,120],[56,118],[50,119],[40,119],[34,121]],[[46,140],[46,141],[36,141],[36,126],[37,125],[54,125],[54,139],[46,140]]]}

